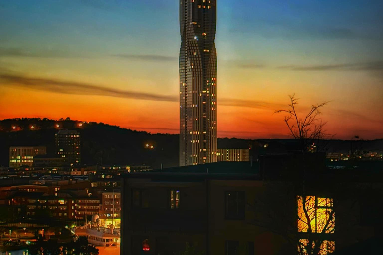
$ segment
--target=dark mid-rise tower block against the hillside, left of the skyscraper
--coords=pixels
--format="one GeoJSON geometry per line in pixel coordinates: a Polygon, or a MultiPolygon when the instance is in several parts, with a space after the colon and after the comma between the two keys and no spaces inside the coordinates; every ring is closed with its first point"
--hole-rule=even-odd
{"type": "Polygon", "coordinates": [[[55,134],[56,153],[70,166],[81,163],[81,136],[77,131],[60,130],[55,134]]]}

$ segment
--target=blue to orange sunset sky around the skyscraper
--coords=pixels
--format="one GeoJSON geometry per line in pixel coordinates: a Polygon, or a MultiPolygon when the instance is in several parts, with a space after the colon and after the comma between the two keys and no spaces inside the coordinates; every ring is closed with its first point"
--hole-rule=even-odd
{"type": "MultiPolygon", "coordinates": [[[[338,139],[383,138],[382,0],[217,0],[218,137],[288,138],[323,109],[338,139]]],[[[178,133],[178,0],[0,0],[0,119],[178,133]]]]}

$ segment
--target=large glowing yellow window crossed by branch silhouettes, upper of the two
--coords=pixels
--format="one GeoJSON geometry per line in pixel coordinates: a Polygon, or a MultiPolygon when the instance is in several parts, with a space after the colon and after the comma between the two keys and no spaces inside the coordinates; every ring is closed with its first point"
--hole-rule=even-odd
{"type": "Polygon", "coordinates": [[[297,196],[298,232],[334,233],[335,215],[332,198],[297,196]]]}

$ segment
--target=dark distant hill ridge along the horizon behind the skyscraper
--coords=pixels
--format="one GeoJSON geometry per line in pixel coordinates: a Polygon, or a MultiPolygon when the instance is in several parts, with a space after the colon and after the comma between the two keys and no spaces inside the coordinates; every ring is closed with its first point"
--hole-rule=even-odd
{"type": "MultiPolygon", "coordinates": [[[[152,134],[69,118],[1,120],[0,165],[8,166],[10,146],[46,145],[48,154],[53,155],[54,134],[62,129],[81,133],[81,158],[84,164],[100,164],[102,159],[103,164],[146,164],[154,168],[159,168],[161,164],[164,167],[178,166],[179,139],[176,134],[152,134]],[[153,145],[154,148],[147,148],[146,144],[153,145]]],[[[259,153],[284,153],[293,148],[294,144],[292,139],[218,139],[218,148],[251,148],[253,158],[259,153]],[[264,148],[265,144],[267,148],[264,148]]],[[[347,152],[350,146],[351,141],[332,140],[328,143],[328,150],[347,152]]],[[[383,139],[354,141],[353,146],[364,150],[383,150],[383,139]]]]}

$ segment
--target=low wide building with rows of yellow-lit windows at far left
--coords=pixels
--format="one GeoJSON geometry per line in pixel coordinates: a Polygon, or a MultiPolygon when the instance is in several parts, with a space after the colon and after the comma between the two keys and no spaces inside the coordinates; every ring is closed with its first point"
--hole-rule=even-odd
{"type": "Polygon", "coordinates": [[[9,148],[9,167],[32,166],[36,155],[46,155],[45,146],[12,146],[9,148]]]}

